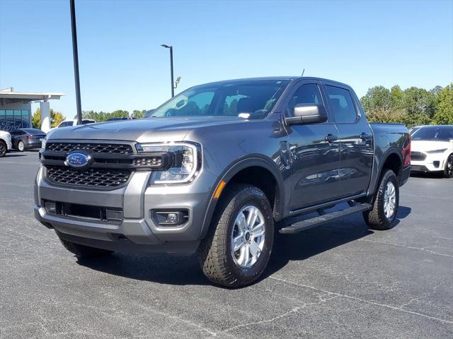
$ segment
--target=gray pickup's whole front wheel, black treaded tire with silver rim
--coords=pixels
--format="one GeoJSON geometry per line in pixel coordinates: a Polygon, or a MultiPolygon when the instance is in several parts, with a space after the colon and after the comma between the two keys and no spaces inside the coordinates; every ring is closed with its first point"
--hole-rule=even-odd
{"type": "Polygon", "coordinates": [[[198,254],[203,273],[217,285],[225,287],[249,285],[260,277],[268,265],[273,238],[272,208],[263,191],[256,186],[234,184],[219,201],[210,231],[200,244],[198,254]],[[247,224],[249,213],[256,210],[259,211],[255,212],[258,215],[256,222],[247,224]],[[260,220],[261,218],[263,220],[260,220]],[[237,220],[243,220],[244,224],[238,223],[237,220]],[[239,225],[243,225],[244,231],[239,230],[239,225]],[[248,232],[249,226],[253,226],[250,227],[251,232],[248,232]],[[261,232],[263,239],[258,235],[261,232]],[[236,252],[232,248],[233,237],[242,239],[239,240],[242,245],[236,252]],[[262,246],[260,251],[256,250],[256,246],[262,246]]]}

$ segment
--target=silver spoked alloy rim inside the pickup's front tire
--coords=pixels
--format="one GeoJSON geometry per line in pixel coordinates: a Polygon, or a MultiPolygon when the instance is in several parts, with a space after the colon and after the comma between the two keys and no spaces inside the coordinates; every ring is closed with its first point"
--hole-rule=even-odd
{"type": "Polygon", "coordinates": [[[231,234],[231,254],[241,268],[255,265],[263,252],[265,241],[265,219],[255,206],[242,208],[234,220],[231,234]]]}

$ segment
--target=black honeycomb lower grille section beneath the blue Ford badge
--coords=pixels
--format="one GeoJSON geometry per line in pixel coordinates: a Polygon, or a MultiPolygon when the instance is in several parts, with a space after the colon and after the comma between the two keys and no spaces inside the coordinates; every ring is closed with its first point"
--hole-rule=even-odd
{"type": "Polygon", "coordinates": [[[110,189],[125,185],[132,174],[130,169],[91,168],[79,172],[71,167],[46,165],[45,168],[47,180],[54,184],[110,189]]]}

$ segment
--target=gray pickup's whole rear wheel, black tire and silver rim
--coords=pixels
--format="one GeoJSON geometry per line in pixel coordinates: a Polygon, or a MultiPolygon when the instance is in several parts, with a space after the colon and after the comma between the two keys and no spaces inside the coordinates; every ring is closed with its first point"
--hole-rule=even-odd
{"type": "Polygon", "coordinates": [[[384,174],[382,174],[381,182],[379,182],[379,188],[374,196],[372,206],[372,210],[367,210],[363,213],[363,218],[371,230],[389,230],[391,227],[394,227],[394,221],[399,206],[399,185],[398,178],[396,178],[395,173],[391,169],[387,169],[384,174]],[[391,213],[389,213],[390,210],[387,210],[386,214],[386,188],[389,187],[388,192],[390,192],[391,186],[393,186],[394,189],[394,208],[391,210],[391,213]]]}

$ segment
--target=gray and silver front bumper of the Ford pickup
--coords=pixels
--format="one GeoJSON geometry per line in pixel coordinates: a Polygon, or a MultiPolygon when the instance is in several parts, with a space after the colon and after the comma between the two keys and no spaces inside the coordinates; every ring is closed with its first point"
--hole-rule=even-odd
{"type": "Polygon", "coordinates": [[[134,172],[125,187],[89,191],[50,185],[42,172],[41,168],[35,182],[35,218],[54,228],[63,239],[115,251],[195,252],[215,183],[212,174],[202,172],[203,177],[191,184],[148,186],[150,172],[134,172]],[[43,206],[47,200],[122,208],[124,218],[120,223],[110,223],[55,215],[47,213],[43,206]],[[152,218],[151,210],[155,209],[185,209],[189,218],[178,227],[162,227],[152,218]]]}

